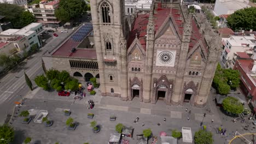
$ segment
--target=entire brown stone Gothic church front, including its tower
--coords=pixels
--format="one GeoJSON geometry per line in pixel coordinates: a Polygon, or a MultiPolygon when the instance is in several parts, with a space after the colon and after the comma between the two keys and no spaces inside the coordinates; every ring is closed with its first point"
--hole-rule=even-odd
{"type": "Polygon", "coordinates": [[[126,37],[123,0],[90,1],[102,95],[121,100],[138,97],[153,104],[161,99],[167,105],[204,106],[220,54],[219,35],[205,30],[205,23],[201,28],[193,14],[182,11],[181,6],[177,7],[181,26],[171,14],[156,26],[159,3],[153,2],[147,15],[145,35],[140,31],[132,38],[133,31],[126,37]],[[194,26],[200,27],[202,36],[191,46],[194,26]],[[142,40],[146,41],[144,47],[142,40]]]}

